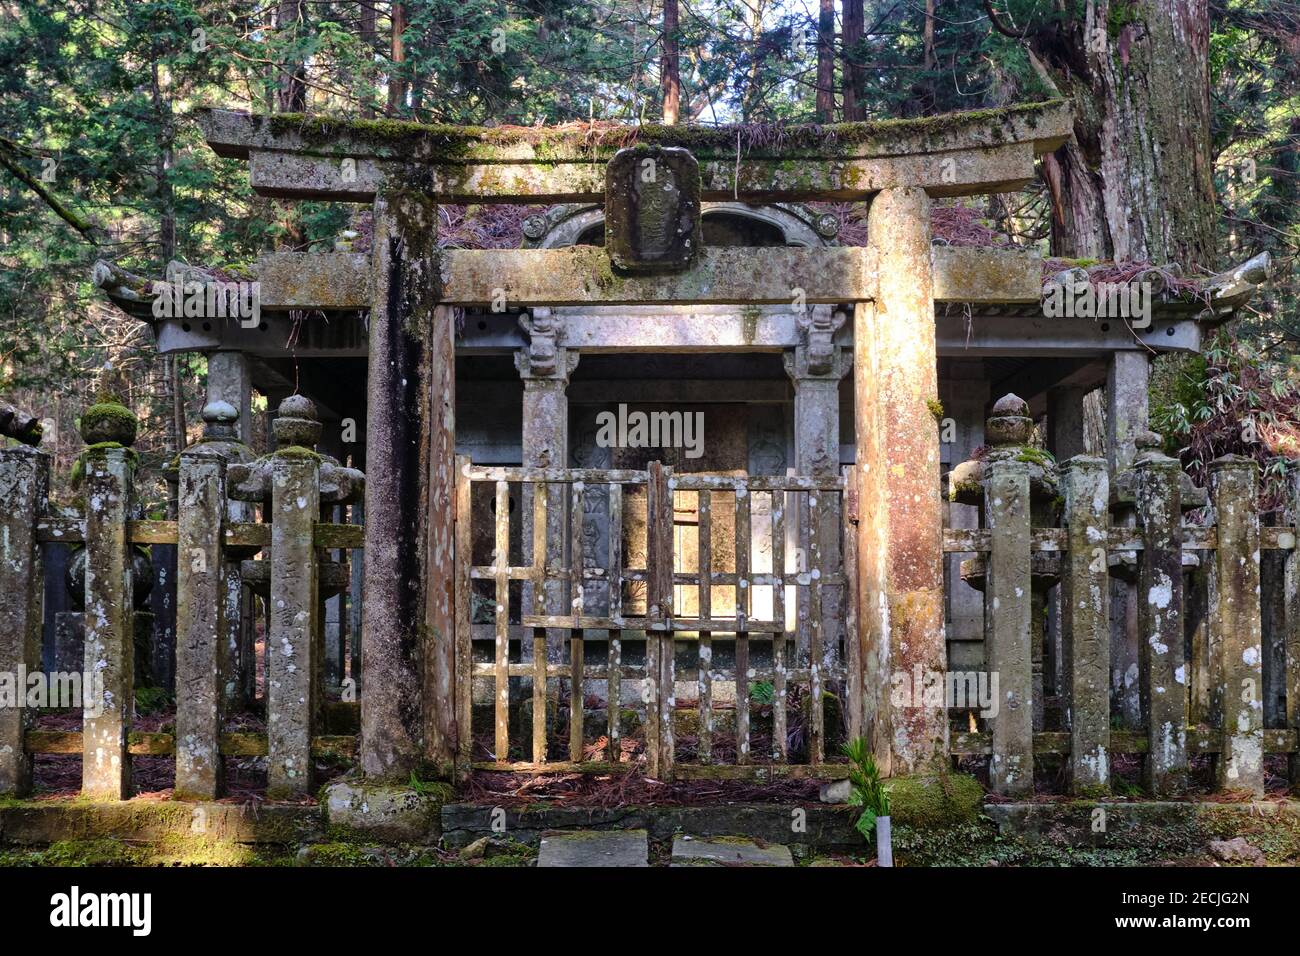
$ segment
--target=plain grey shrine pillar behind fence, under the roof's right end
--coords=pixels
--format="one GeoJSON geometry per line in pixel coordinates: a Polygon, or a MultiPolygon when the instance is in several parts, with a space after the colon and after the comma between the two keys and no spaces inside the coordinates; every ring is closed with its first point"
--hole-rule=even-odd
{"type": "MultiPolygon", "coordinates": [[[[1132,467],[1138,436],[1148,427],[1150,360],[1144,351],[1112,352],[1106,369],[1106,462],[1110,480],[1132,467]]],[[[1131,505],[1115,514],[1119,527],[1136,527],[1131,505]]],[[[1138,589],[1134,579],[1136,555],[1113,555],[1122,562],[1110,584],[1112,696],[1126,727],[1141,726],[1141,670],[1138,649],[1138,589]]]]}

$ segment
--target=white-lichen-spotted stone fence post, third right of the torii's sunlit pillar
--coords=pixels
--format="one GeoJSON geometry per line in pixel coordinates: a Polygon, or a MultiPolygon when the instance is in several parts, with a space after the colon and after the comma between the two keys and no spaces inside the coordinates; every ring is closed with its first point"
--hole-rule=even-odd
{"type": "Polygon", "coordinates": [[[1147,761],[1154,795],[1187,783],[1187,666],[1183,659],[1182,468],[1161,454],[1158,436],[1138,438],[1135,494],[1143,551],[1138,559],[1138,636],[1147,761]]]}

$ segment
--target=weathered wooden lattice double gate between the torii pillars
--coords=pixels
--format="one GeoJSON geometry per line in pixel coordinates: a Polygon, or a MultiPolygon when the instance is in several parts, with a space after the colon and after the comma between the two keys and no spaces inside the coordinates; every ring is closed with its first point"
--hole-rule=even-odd
{"type": "Polygon", "coordinates": [[[460,765],[841,774],[862,719],[845,480],[459,459],[460,765]]]}

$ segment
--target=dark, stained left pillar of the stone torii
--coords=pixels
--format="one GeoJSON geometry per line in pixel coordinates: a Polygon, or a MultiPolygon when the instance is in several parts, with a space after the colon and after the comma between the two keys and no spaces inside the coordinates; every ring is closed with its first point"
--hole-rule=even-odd
{"type": "Polygon", "coordinates": [[[438,211],[374,202],[367,410],[361,769],[450,769],[454,665],[454,321],[438,307],[438,211]]]}

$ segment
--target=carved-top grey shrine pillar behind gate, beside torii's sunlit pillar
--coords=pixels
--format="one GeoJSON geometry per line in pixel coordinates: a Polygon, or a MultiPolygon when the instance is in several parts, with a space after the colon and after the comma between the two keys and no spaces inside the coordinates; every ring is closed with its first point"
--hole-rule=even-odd
{"type": "MultiPolygon", "coordinates": [[[[794,467],[800,475],[836,477],[840,473],[840,380],[853,367],[852,358],[831,337],[844,325],[845,316],[836,312],[827,320],[805,317],[805,343],[785,354],[785,372],[794,382],[794,467]]],[[[818,506],[810,509],[809,520],[818,525],[822,544],[819,559],[826,568],[840,566],[840,499],[835,494],[814,496],[818,506]]],[[[789,509],[784,507],[786,514],[789,509]]],[[[798,528],[800,548],[811,553],[811,528],[798,528]]],[[[800,568],[803,570],[803,568],[800,568]]],[[[784,571],[784,568],[775,572],[784,571]]],[[[801,605],[809,596],[801,594],[801,605]]],[[[822,592],[822,661],[829,672],[838,661],[838,639],[842,618],[840,588],[822,592]]],[[[805,613],[801,609],[801,615],[805,613]]],[[[854,640],[857,636],[854,635],[854,640]]]]}

